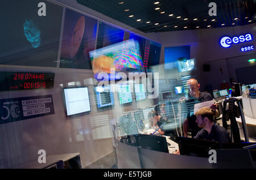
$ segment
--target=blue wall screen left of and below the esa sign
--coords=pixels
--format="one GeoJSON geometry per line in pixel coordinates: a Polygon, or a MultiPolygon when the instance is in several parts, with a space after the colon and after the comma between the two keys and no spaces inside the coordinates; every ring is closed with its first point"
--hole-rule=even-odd
{"type": "Polygon", "coordinates": [[[164,48],[164,68],[178,68],[179,72],[190,71],[195,67],[194,59],[190,58],[190,46],[164,48]]]}

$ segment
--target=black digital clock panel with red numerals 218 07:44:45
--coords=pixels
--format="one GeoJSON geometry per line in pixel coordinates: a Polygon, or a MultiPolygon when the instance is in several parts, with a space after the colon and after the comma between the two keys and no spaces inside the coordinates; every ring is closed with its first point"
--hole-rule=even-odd
{"type": "Polygon", "coordinates": [[[0,91],[53,88],[54,73],[0,72],[0,91]]]}

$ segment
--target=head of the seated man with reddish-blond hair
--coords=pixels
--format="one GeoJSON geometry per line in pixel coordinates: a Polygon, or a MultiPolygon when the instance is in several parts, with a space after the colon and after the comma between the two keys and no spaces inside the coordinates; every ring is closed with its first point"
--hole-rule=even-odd
{"type": "Polygon", "coordinates": [[[196,123],[199,127],[205,127],[207,124],[213,122],[214,112],[208,107],[199,109],[195,115],[196,123]]]}

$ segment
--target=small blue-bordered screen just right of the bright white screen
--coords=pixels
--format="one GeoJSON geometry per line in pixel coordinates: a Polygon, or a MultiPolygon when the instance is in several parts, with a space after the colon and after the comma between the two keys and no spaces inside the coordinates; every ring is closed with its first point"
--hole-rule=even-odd
{"type": "Polygon", "coordinates": [[[104,108],[106,106],[114,105],[114,95],[111,92],[109,86],[98,86],[95,87],[96,97],[97,97],[97,107],[104,108]]]}

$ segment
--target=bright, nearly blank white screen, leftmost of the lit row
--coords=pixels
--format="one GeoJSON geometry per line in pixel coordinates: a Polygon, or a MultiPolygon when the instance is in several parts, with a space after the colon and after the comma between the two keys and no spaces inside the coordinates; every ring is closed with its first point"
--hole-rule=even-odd
{"type": "Polygon", "coordinates": [[[67,115],[90,112],[88,87],[64,89],[67,115]]]}

